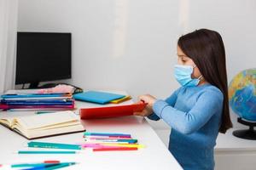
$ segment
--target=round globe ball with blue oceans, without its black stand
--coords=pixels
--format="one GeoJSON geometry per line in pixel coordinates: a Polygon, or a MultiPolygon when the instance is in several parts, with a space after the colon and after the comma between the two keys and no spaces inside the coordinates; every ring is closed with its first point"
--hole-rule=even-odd
{"type": "Polygon", "coordinates": [[[241,71],[231,80],[229,101],[236,115],[256,122],[256,68],[241,71]]]}

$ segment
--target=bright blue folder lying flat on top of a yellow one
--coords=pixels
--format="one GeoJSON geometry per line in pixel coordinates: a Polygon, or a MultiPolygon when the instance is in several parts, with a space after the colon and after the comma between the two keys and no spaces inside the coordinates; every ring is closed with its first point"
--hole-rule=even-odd
{"type": "Polygon", "coordinates": [[[110,93],[97,92],[97,91],[88,91],[88,92],[73,95],[74,99],[97,103],[97,104],[107,104],[113,99],[121,99],[124,97],[125,95],[121,95],[121,94],[110,94],[110,93]]]}

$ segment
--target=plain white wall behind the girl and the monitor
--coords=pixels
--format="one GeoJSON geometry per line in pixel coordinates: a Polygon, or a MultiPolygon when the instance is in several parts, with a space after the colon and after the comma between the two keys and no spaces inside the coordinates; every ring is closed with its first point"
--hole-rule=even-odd
{"type": "Polygon", "coordinates": [[[188,31],[221,33],[229,79],[255,67],[255,8],[253,0],[20,0],[18,30],[73,33],[73,78],[67,82],[126,90],[134,99],[166,98],[178,88],[176,43],[188,31]]]}

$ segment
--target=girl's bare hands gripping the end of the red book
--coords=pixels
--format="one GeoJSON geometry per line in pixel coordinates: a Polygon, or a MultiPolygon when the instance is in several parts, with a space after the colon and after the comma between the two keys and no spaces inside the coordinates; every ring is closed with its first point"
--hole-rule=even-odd
{"type": "Polygon", "coordinates": [[[153,105],[154,105],[154,102],[156,101],[156,99],[149,95],[149,94],[146,94],[146,95],[141,95],[138,97],[139,101],[140,102],[144,102],[144,103],[148,103],[148,105],[145,107],[145,109],[141,112],[135,112],[134,115],[136,116],[149,116],[153,113],[153,105]]]}

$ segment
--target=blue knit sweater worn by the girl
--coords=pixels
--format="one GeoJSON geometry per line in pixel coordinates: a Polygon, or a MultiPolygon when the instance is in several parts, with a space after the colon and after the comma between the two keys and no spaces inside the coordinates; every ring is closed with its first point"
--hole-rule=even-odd
{"type": "Polygon", "coordinates": [[[149,119],[163,119],[170,127],[169,150],[185,170],[214,169],[213,148],[221,122],[224,96],[210,85],[178,88],[158,99],[149,119]]]}

